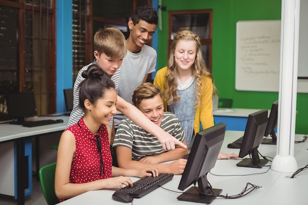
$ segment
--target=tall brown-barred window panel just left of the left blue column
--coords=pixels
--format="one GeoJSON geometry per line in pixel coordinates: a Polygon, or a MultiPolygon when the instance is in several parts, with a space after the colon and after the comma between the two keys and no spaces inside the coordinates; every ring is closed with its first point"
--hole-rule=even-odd
{"type": "Polygon", "coordinates": [[[26,13],[26,90],[34,90],[38,115],[48,112],[50,76],[48,72],[48,34],[45,15],[26,13]]]}

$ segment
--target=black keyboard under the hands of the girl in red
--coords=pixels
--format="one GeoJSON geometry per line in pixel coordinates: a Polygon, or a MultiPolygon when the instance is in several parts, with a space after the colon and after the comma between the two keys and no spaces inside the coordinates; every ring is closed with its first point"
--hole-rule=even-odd
{"type": "Polygon", "coordinates": [[[158,176],[147,176],[133,183],[133,186],[126,186],[116,192],[127,192],[133,198],[141,198],[150,192],[171,181],[173,174],[160,173],[158,176]]]}

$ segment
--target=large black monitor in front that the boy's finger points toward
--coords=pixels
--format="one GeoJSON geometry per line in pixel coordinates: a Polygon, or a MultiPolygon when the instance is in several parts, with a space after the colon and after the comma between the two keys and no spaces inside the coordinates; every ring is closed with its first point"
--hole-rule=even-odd
{"type": "Polygon", "coordinates": [[[209,186],[207,173],[215,166],[224,139],[226,125],[219,123],[197,133],[189,153],[179,189],[185,190],[196,184],[178,197],[178,200],[210,204],[221,189],[209,186]]]}

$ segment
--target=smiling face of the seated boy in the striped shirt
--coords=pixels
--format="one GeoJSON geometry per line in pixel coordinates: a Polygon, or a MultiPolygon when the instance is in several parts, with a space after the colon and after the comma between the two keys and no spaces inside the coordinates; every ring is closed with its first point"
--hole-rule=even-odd
{"type": "Polygon", "coordinates": [[[164,107],[161,97],[157,94],[153,98],[143,99],[138,109],[154,124],[160,126],[164,115],[164,107]]]}

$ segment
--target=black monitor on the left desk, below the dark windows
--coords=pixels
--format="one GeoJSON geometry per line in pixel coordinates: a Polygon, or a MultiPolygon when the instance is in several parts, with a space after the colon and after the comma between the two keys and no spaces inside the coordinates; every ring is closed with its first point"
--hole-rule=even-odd
{"type": "Polygon", "coordinates": [[[37,115],[33,91],[7,93],[6,107],[8,116],[14,119],[11,124],[22,124],[25,118],[37,115]]]}

